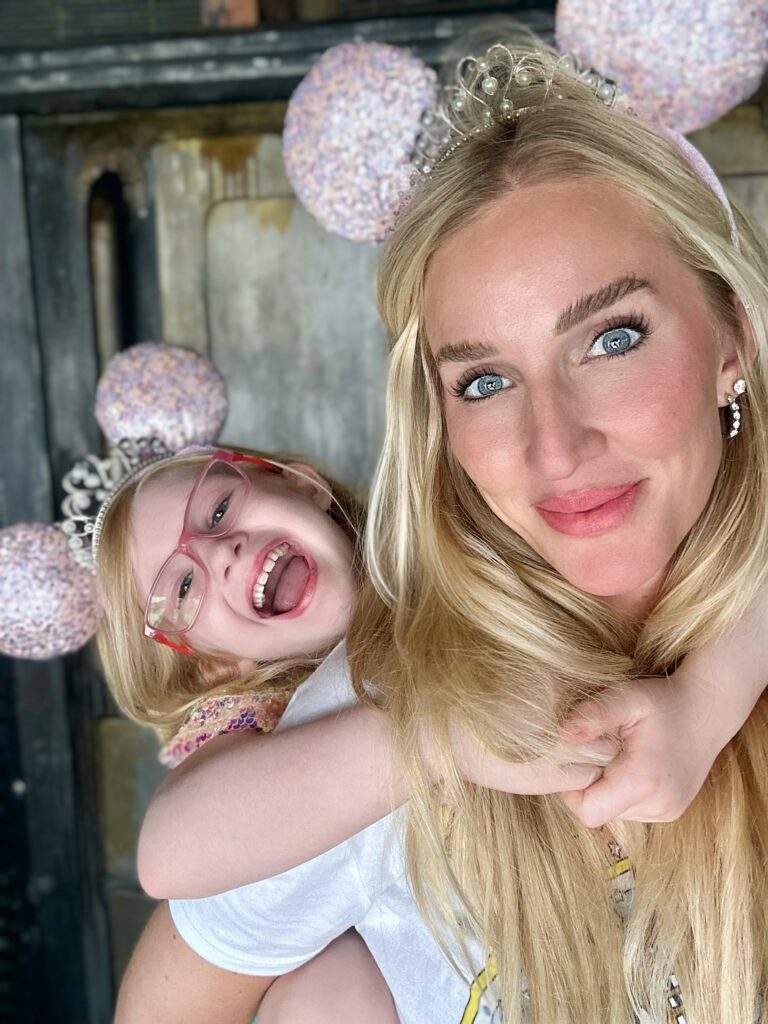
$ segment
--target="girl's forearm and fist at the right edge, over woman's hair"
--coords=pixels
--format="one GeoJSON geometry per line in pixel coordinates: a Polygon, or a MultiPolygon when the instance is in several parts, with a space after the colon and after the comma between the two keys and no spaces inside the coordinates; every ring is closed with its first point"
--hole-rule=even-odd
{"type": "Polygon", "coordinates": [[[674,821],[768,685],[768,598],[761,595],[726,637],[689,654],[668,679],[641,679],[585,705],[564,735],[586,743],[608,733],[621,754],[603,777],[563,797],[591,827],[615,818],[674,821]]]}

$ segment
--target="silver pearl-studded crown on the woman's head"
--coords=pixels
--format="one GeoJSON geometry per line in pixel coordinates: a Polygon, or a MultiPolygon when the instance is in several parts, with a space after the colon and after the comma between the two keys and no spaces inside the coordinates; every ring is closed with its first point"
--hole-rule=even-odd
{"type": "Polygon", "coordinates": [[[606,106],[615,102],[613,79],[582,67],[569,53],[548,65],[539,54],[515,52],[495,43],[482,57],[466,56],[456,66],[455,84],[443,86],[437,104],[422,116],[411,162],[428,175],[468,138],[541,106],[557,72],[580,79],[606,106]],[[520,103],[520,94],[528,88],[530,102],[520,103]]]}

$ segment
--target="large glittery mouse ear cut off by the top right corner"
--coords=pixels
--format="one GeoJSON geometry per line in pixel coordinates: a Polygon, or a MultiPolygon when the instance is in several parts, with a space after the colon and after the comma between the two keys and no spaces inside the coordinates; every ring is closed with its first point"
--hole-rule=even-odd
{"type": "Polygon", "coordinates": [[[688,133],[756,91],[768,65],[765,0],[559,0],[561,52],[616,79],[641,115],[688,133]]]}

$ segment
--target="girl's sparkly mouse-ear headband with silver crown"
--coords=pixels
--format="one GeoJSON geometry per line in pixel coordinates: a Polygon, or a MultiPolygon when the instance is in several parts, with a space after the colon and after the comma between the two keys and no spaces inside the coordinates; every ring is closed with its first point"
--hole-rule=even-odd
{"type": "Polygon", "coordinates": [[[109,364],[95,415],[110,454],[66,474],[60,522],[0,530],[0,652],[46,658],[88,642],[102,613],[93,556],[110,504],[155,463],[213,445],[226,413],[223,379],[187,349],[144,342],[109,364]]]}

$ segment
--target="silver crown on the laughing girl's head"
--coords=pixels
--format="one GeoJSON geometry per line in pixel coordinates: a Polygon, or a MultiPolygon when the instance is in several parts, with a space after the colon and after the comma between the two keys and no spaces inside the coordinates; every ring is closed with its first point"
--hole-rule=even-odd
{"type": "Polygon", "coordinates": [[[125,438],[105,458],[86,456],[65,474],[63,519],[58,525],[79,565],[95,571],[101,524],[110,505],[130,480],[172,455],[157,437],[125,438]]]}

